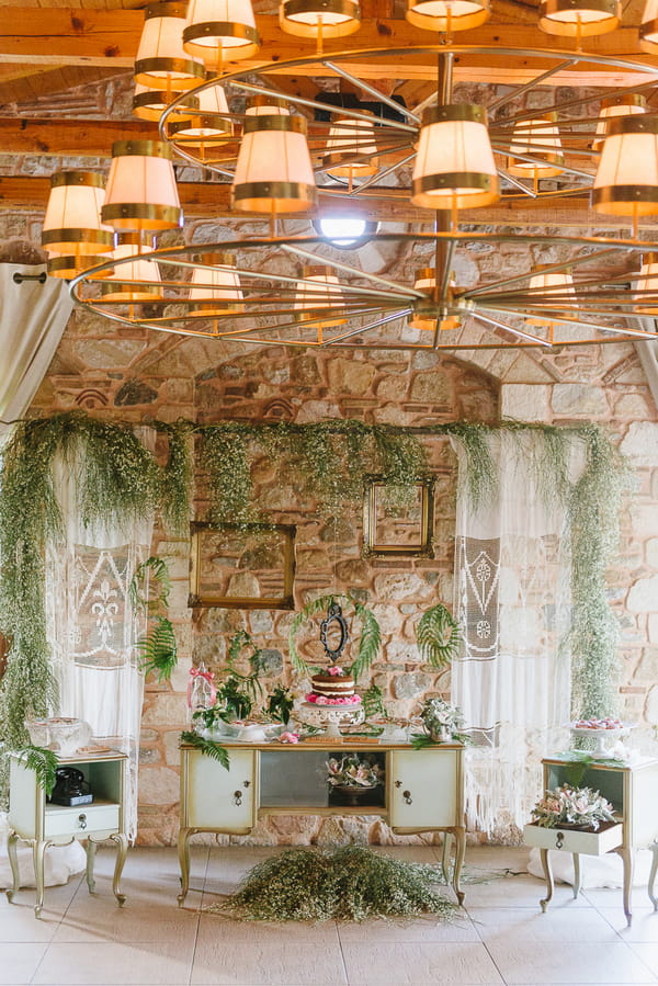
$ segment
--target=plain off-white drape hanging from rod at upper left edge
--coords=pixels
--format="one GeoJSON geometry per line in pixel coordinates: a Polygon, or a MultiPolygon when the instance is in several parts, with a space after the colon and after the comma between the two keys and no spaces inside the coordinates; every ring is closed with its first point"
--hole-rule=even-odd
{"type": "MultiPolygon", "coordinates": [[[[21,418],[45,376],[71,314],[67,285],[44,264],[0,263],[0,419],[21,418]],[[14,280],[15,275],[15,280],[14,280]],[[31,280],[24,280],[29,275],[31,280]]],[[[0,426],[0,434],[7,424],[0,426]]]]}

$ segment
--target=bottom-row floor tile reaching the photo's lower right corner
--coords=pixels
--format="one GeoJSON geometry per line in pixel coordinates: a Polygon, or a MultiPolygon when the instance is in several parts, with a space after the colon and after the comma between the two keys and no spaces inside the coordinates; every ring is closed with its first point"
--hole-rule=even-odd
{"type": "Polygon", "coordinates": [[[578,983],[579,986],[619,986],[620,983],[656,983],[647,965],[622,941],[555,942],[496,939],[487,949],[506,983],[578,983]]]}

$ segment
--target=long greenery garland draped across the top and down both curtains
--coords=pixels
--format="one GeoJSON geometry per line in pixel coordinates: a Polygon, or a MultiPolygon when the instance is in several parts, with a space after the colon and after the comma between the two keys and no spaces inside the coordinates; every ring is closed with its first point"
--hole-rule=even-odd
{"type": "MultiPolygon", "coordinates": [[[[465,455],[464,481],[476,509],[496,492],[490,435],[498,429],[515,431],[520,441],[525,434],[541,434],[541,453],[533,458],[533,468],[544,495],[566,505],[570,522],[574,713],[589,716],[613,711],[617,628],[605,594],[605,565],[617,536],[626,472],[619,451],[598,426],[446,422],[415,430],[349,420],[151,424],[168,440],[163,465],[141,445],[131,426],[81,411],[21,421],[3,450],[0,630],[11,643],[0,683],[0,739],[5,748],[26,745],[26,715],[47,716],[57,705],[44,598],[44,547],[57,545],[63,533],[53,481],[56,455],[76,471],[78,506],[86,523],[121,523],[159,507],[172,533],[182,533],[191,513],[195,434],[201,435],[201,462],[207,471],[209,513],[234,522],[251,519],[256,509],[251,489],[256,454],[292,458],[299,466],[295,475],[300,476],[300,485],[305,483],[324,509],[336,515],[340,505],[360,500],[370,475],[383,475],[392,491],[404,490],[427,472],[419,437],[446,437],[465,455]],[[586,453],[586,467],[576,484],[569,481],[567,471],[574,440],[586,453]]],[[[374,653],[368,635],[374,641],[372,624],[365,641],[374,653]]],[[[364,654],[359,669],[371,659],[372,654],[364,654]]]]}

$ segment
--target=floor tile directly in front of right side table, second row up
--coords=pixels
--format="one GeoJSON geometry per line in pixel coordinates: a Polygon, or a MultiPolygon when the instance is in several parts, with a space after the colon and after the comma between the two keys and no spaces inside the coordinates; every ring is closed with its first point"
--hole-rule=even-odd
{"type": "Polygon", "coordinates": [[[469,907],[468,914],[484,942],[619,941],[610,922],[589,907],[557,908],[542,914],[524,907],[469,907]]]}

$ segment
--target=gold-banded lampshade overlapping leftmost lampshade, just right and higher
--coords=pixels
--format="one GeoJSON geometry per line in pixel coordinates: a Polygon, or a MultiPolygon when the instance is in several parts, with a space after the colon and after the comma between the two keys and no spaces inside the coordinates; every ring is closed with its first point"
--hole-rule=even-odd
{"type": "Polygon", "coordinates": [[[101,216],[120,230],[172,229],[182,225],[171,148],[161,140],[118,140],[101,216]]]}

